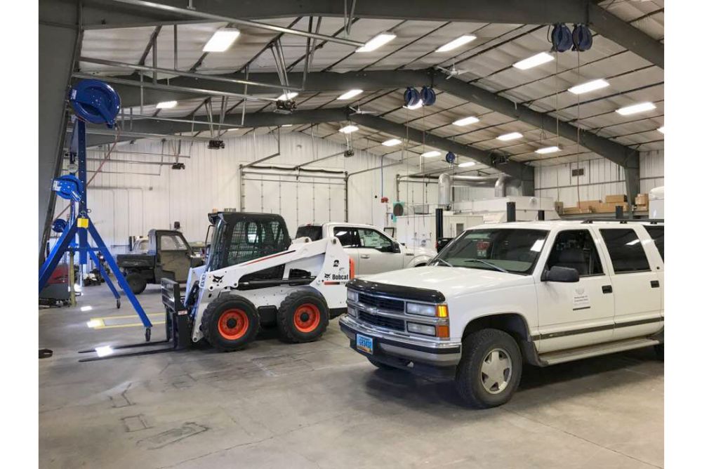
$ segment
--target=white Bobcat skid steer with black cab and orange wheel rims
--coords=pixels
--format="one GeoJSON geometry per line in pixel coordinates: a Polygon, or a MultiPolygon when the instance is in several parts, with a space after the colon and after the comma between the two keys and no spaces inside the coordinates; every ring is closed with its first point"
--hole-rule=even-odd
{"type": "Polygon", "coordinates": [[[277,326],[283,341],[314,341],[345,312],[354,266],[336,237],[291,242],[283,218],[268,213],[211,213],[210,221],[206,265],[190,269],[185,295],[161,280],[177,348],[204,339],[237,350],[262,326],[277,326]]]}

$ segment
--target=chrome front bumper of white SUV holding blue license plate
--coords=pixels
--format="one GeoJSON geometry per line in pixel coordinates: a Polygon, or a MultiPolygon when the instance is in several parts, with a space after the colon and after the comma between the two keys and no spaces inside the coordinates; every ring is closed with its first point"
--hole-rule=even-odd
{"type": "Polygon", "coordinates": [[[341,331],[350,339],[350,347],[361,355],[379,358],[393,357],[406,361],[407,364],[423,364],[437,367],[456,366],[461,360],[461,343],[451,341],[430,341],[408,337],[391,331],[381,331],[375,326],[359,322],[354,317],[343,315],[339,319],[341,331]],[[356,334],[373,338],[377,352],[367,355],[356,348],[356,334]],[[377,356],[376,356],[377,355],[377,356]]]}

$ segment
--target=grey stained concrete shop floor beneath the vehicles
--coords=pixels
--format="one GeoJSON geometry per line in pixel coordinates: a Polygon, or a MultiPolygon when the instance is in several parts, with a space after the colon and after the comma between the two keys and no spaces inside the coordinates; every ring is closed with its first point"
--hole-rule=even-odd
{"type": "MultiPolygon", "coordinates": [[[[139,299],[162,320],[156,286],[139,299]]],[[[473,411],[450,384],[376,370],[337,320],[316,343],[266,333],[239,352],[78,363],[81,348],[143,339],[139,327],[86,326],[132,312],[114,309],[105,286],[79,303],[93,310],[39,312],[39,345],[54,351],[39,360],[41,468],[663,466],[663,364],[652,350],[527,367],[510,403],[473,411]]]]}

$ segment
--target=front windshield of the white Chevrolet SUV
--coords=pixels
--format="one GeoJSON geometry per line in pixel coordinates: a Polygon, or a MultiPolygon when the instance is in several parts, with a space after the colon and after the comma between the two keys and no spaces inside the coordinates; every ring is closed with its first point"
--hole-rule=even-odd
{"type": "Polygon", "coordinates": [[[546,230],[515,228],[468,230],[446,246],[431,265],[528,275],[547,235],[546,230]]]}

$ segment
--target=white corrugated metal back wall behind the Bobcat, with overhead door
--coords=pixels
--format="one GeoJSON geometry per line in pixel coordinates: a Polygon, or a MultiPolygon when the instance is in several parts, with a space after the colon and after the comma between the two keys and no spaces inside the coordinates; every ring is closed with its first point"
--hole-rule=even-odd
{"type": "MultiPolygon", "coordinates": [[[[129,161],[160,161],[157,156],[172,154],[170,143],[139,140],[134,144],[119,145],[110,159],[129,161]],[[147,152],[152,155],[126,152],[147,152]]],[[[314,141],[300,133],[282,135],[281,155],[262,164],[291,165],[321,158],[344,150],[343,145],[329,140],[314,141]]],[[[88,191],[91,218],[105,243],[115,253],[126,249],[128,237],[146,234],[151,228],[172,227],[180,221],[181,230],[190,241],[204,239],[208,221],[206,213],[212,209],[239,207],[239,164],[253,161],[277,152],[277,139],[272,135],[245,136],[225,139],[222,150],[208,150],[206,143],[183,143],[180,159],[185,170],[173,170],[170,164],[133,164],[111,162],[105,164],[88,191]]],[[[88,158],[102,158],[102,152],[90,151],[88,158]]],[[[398,154],[392,154],[399,158],[398,154]]],[[[167,157],[164,161],[174,161],[167,157]]],[[[385,158],[384,164],[390,159],[385,158]]],[[[390,161],[392,162],[392,161],[390,161]]],[[[95,169],[98,161],[88,161],[88,169],[95,169]]],[[[341,169],[352,173],[380,166],[380,157],[365,151],[356,151],[354,157],[337,157],[317,166],[324,169],[341,169]]],[[[395,200],[395,175],[416,172],[416,166],[392,166],[383,171],[381,193],[380,170],[352,176],[348,191],[349,220],[357,223],[385,225],[383,195],[395,200]]],[[[92,173],[88,173],[88,178],[92,173]]],[[[262,176],[250,176],[261,178],[262,176]]],[[[264,179],[278,179],[263,176],[264,179]]],[[[280,178],[291,180],[291,178],[280,178]]],[[[246,183],[245,208],[249,211],[282,213],[293,232],[300,223],[344,220],[343,180],[322,179],[318,184],[305,183],[310,178],[300,178],[299,183],[263,182],[263,202],[260,181],[246,183]],[[279,189],[280,188],[280,189],[279,189]],[[331,192],[330,192],[331,191],[331,192]],[[282,210],[281,210],[282,207],[282,210]]],[[[59,200],[58,211],[65,204],[59,200]]],[[[58,213],[58,212],[57,212],[58,213]]]]}

